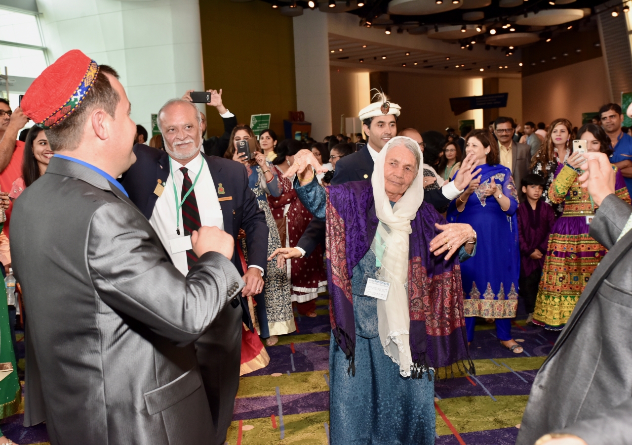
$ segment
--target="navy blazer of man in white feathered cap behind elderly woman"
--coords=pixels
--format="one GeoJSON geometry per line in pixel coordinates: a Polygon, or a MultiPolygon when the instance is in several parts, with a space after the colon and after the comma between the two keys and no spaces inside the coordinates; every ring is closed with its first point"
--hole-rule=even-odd
{"type": "MultiPolygon", "coordinates": [[[[355,153],[344,156],[336,163],[334,177],[331,185],[344,184],[351,181],[370,181],[373,174],[373,158],[368,153],[368,147],[363,146],[355,153]]],[[[450,200],[444,196],[441,189],[427,190],[423,192],[423,201],[432,204],[435,209],[445,208],[450,200]]],[[[296,244],[305,251],[305,256],[313,252],[320,243],[325,242],[325,222],[312,219],[303,235],[296,244]]]]}

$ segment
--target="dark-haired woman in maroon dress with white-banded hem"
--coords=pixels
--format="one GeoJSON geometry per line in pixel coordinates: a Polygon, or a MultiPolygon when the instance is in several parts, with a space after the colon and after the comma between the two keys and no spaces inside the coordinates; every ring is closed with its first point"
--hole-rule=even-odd
{"type": "MultiPolygon", "coordinates": [[[[277,145],[277,157],[272,161],[272,171],[279,176],[283,194],[279,197],[268,197],[268,203],[279,227],[283,247],[295,247],[312,220],[312,213],[296,197],[291,180],[283,177],[283,173],[287,172],[294,162],[295,154],[302,148],[303,144],[300,141],[285,139],[277,145]]],[[[292,301],[296,301],[296,310],[301,315],[316,317],[316,298],[319,292],[327,290],[322,249],[318,246],[310,256],[293,258],[287,265],[292,301]]]]}

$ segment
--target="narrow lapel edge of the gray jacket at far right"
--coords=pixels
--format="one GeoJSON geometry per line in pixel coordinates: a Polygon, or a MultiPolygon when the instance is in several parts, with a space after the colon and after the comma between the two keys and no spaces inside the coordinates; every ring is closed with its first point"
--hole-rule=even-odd
{"type": "MultiPolygon", "coordinates": [[[[590,304],[597,291],[599,291],[599,287],[602,282],[609,275],[612,268],[617,265],[619,260],[621,260],[621,258],[626,253],[628,253],[630,248],[632,248],[632,231],[628,232],[626,235],[624,235],[623,238],[621,238],[616,244],[614,244],[608,254],[604,256],[603,260],[601,260],[599,266],[597,266],[595,272],[593,272],[592,276],[590,277],[590,280],[588,280],[588,284],[586,284],[584,291],[581,292],[580,301],[578,302],[577,306],[575,306],[573,310],[573,315],[571,315],[571,318],[569,318],[568,323],[566,323],[566,326],[562,330],[562,334],[560,334],[560,336],[557,338],[553,349],[551,349],[549,356],[544,363],[549,361],[550,358],[554,356],[554,354],[558,351],[558,349],[561,348],[562,343],[566,341],[569,334],[577,324],[578,320],[581,318],[581,315],[588,307],[588,304],[590,304]]],[[[543,367],[544,363],[542,364],[543,367]]]]}

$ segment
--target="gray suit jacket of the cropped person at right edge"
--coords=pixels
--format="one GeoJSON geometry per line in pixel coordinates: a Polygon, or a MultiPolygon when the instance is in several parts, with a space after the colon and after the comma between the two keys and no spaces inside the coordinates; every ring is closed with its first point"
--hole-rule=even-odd
{"type": "Polygon", "coordinates": [[[609,252],[533,382],[516,445],[549,432],[588,445],[632,442],[632,231],[615,244],[631,213],[612,194],[590,224],[609,252]]]}

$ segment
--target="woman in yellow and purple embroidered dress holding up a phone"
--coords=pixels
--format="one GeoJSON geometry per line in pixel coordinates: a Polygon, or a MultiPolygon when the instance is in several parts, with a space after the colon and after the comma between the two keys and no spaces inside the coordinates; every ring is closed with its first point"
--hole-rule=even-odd
{"type": "MultiPolygon", "coordinates": [[[[588,142],[588,151],[612,154],[610,138],[599,125],[587,123],[578,132],[588,142]]],[[[586,282],[607,253],[588,230],[588,219],[595,215],[595,206],[586,189],[581,188],[578,176],[585,162],[580,153],[573,154],[557,168],[555,180],[549,188],[553,203],[563,203],[564,213],[557,218],[549,236],[547,256],[535,301],[533,324],[550,330],[561,330],[571,317],[586,282]]],[[[630,202],[623,175],[616,171],[617,196],[630,202]]]]}

